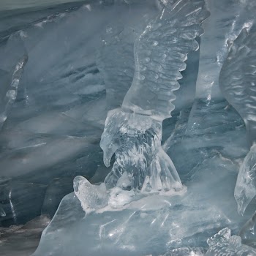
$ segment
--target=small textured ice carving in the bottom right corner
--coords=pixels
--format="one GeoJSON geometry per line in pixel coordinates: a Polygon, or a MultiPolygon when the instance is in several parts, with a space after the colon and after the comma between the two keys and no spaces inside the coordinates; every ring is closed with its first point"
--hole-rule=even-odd
{"type": "Polygon", "coordinates": [[[206,256],[255,256],[256,249],[241,244],[240,236],[231,236],[231,230],[224,228],[207,240],[206,256]]]}

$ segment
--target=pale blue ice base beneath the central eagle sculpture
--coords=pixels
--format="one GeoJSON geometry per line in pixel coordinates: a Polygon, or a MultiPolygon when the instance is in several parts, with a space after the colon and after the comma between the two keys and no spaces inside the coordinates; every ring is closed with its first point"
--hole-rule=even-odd
{"type": "Polygon", "coordinates": [[[236,165],[217,154],[197,167],[187,192],[140,196],[123,208],[85,214],[71,193],[42,233],[34,255],[160,255],[170,249],[207,247],[206,238],[224,227],[238,233],[252,215],[236,212],[236,165]]]}

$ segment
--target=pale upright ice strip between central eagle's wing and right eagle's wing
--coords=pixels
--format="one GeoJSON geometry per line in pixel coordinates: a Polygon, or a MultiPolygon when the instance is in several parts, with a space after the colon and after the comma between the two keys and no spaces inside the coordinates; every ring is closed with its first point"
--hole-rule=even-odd
{"type": "Polygon", "coordinates": [[[255,20],[255,1],[207,0],[211,16],[203,27],[200,44],[200,64],[197,78],[198,99],[222,99],[219,90],[219,72],[227,57],[227,39],[235,39],[244,27],[255,20]]]}

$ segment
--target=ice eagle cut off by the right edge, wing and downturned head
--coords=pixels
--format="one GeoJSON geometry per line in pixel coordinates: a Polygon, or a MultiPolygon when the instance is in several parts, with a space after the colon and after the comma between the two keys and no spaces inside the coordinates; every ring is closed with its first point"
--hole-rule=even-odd
{"type": "Polygon", "coordinates": [[[244,28],[227,41],[228,55],[219,75],[219,86],[227,101],[244,119],[251,146],[238,173],[235,198],[238,212],[244,211],[256,195],[256,32],[244,28]]]}

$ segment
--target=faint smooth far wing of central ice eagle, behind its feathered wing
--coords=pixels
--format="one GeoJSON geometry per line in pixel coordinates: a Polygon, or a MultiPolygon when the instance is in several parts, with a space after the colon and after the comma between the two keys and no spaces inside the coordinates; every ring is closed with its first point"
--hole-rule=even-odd
{"type": "Polygon", "coordinates": [[[129,8],[133,15],[137,16],[139,12],[140,18],[130,19],[123,16],[115,23],[110,23],[102,34],[102,45],[97,53],[97,67],[104,79],[108,109],[121,107],[134,75],[135,39],[143,32],[152,16],[159,12],[158,8],[161,6],[153,9],[149,3],[144,4],[143,8],[133,5],[129,8]]]}

